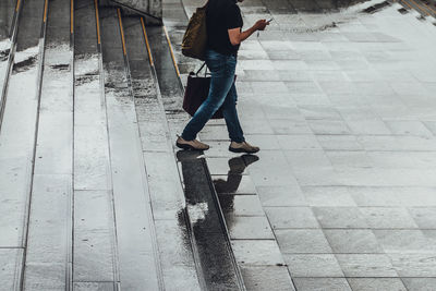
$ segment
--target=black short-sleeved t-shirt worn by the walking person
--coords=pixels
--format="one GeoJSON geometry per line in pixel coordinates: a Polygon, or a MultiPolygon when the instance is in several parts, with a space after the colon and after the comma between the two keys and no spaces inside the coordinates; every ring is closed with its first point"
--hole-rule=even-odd
{"type": "Polygon", "coordinates": [[[207,47],[223,54],[237,54],[229,29],[242,27],[241,10],[234,0],[209,0],[206,10],[207,47]]]}

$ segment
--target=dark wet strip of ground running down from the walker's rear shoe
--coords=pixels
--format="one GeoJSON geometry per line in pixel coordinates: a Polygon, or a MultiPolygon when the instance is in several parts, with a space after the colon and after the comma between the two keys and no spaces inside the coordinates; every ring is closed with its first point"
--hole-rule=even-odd
{"type": "Polygon", "coordinates": [[[186,207],[208,290],[244,290],[217,194],[201,153],[181,150],[186,207]]]}

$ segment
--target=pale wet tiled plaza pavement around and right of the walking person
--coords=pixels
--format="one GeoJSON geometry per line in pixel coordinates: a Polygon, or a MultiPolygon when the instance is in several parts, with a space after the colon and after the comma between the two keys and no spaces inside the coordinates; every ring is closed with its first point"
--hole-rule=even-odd
{"type": "MultiPolygon", "coordinates": [[[[182,2],[187,15],[198,7],[182,2]]],[[[420,19],[428,14],[425,4],[407,2],[240,4],[244,27],[274,17],[266,32],[242,44],[237,69],[242,128],[262,150],[257,161],[232,174],[226,159],[238,157],[227,153],[225,123],[210,122],[199,137],[211,146],[206,158],[243,270],[271,264],[263,255],[276,242],[293,279],[284,281],[296,290],[432,284],[433,278],[396,278],[431,276],[435,254],[435,235],[421,229],[436,222],[429,162],[435,116],[426,109],[435,105],[436,14],[420,19]],[[245,193],[249,180],[254,191],[245,193]],[[262,211],[245,211],[253,197],[262,211]],[[265,245],[264,231],[240,230],[262,217],[275,234],[265,245]],[[256,238],[251,245],[243,240],[250,237],[256,238]]],[[[180,15],[172,3],[165,8],[172,43],[180,44],[180,15]]],[[[199,62],[177,46],[175,54],[185,82],[199,62]]],[[[249,289],[258,288],[249,272],[244,279],[249,289]]]]}

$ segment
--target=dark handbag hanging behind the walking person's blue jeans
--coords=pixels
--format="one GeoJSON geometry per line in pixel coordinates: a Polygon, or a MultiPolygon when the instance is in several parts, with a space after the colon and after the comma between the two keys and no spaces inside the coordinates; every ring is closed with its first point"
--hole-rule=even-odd
{"type": "MultiPolygon", "coordinates": [[[[183,109],[184,111],[190,113],[191,117],[195,114],[197,109],[202,106],[202,104],[209,95],[210,75],[208,75],[207,72],[204,76],[198,75],[198,73],[203,70],[205,65],[206,63],[204,63],[196,73],[191,72],[187,76],[187,84],[184,90],[183,98],[183,109]]],[[[211,119],[222,118],[223,116],[221,108],[219,108],[218,111],[215,112],[215,114],[211,117],[211,119]]]]}

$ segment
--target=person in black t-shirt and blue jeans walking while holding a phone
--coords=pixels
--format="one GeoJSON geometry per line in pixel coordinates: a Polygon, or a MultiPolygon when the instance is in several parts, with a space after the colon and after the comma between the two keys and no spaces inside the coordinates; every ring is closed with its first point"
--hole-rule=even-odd
{"type": "Polygon", "coordinates": [[[206,9],[207,49],[206,64],[211,73],[209,95],[186,124],[177,140],[177,146],[184,149],[206,150],[208,145],[195,140],[206,122],[222,106],[230,137],[229,150],[233,153],[254,154],[258,147],[245,142],[238,118],[238,94],[234,86],[240,44],[256,31],[264,31],[269,23],[257,21],[252,27],[242,32],[243,21],[237,2],[243,0],[209,0],[206,9]]]}

